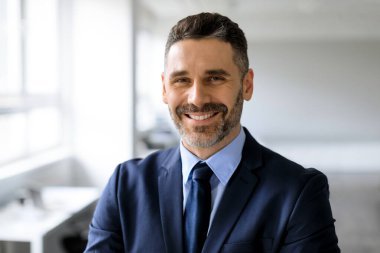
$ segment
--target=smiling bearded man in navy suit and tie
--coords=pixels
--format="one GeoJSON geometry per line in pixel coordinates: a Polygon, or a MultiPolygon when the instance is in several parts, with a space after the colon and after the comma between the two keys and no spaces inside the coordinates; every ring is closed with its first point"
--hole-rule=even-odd
{"type": "Polygon", "coordinates": [[[325,175],[240,125],[253,70],[236,23],[211,13],[179,21],[162,85],[181,142],[117,167],[86,252],[340,252],[325,175]]]}

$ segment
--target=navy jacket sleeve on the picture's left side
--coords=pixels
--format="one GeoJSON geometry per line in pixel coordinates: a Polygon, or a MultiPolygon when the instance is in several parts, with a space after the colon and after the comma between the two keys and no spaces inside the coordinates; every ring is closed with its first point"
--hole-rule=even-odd
{"type": "Polygon", "coordinates": [[[85,253],[123,252],[118,207],[118,167],[106,185],[92,218],[85,253]]]}

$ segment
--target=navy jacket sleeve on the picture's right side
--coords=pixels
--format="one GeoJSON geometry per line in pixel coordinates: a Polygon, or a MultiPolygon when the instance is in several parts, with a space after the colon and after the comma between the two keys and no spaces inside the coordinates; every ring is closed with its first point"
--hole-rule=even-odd
{"type": "Polygon", "coordinates": [[[280,253],[339,253],[334,222],[327,178],[318,173],[294,205],[280,253]]]}

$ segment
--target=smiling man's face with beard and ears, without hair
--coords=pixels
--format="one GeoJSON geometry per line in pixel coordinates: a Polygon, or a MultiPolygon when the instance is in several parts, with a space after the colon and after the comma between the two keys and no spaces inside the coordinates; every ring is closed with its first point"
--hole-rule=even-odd
{"type": "Polygon", "coordinates": [[[229,43],[186,39],[170,48],[162,74],[163,101],[190,149],[224,146],[237,136],[253,72],[243,80],[229,43]]]}

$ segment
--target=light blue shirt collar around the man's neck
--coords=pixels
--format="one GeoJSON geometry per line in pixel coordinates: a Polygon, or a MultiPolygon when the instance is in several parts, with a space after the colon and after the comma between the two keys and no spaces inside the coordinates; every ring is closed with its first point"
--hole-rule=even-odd
{"type": "MultiPolygon", "coordinates": [[[[224,186],[227,185],[228,181],[240,163],[244,142],[245,133],[241,128],[239,135],[230,144],[204,161],[214,172],[220,183],[224,186]]],[[[183,183],[185,184],[189,178],[189,174],[192,168],[199,161],[203,160],[199,159],[197,156],[187,150],[182,144],[182,141],[180,144],[180,153],[182,161],[182,177],[183,183]]]]}

